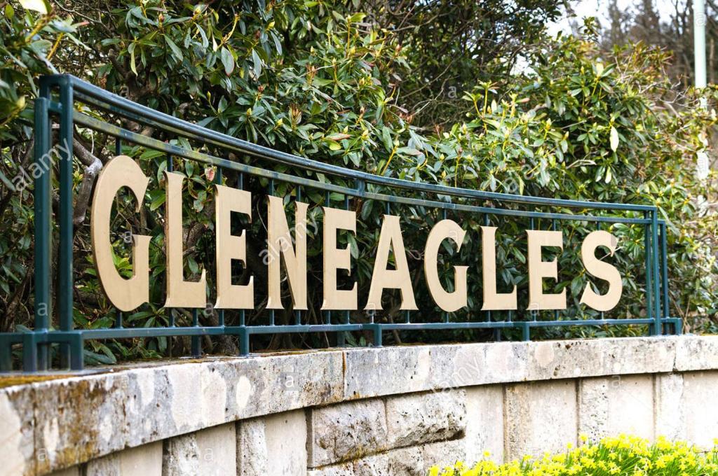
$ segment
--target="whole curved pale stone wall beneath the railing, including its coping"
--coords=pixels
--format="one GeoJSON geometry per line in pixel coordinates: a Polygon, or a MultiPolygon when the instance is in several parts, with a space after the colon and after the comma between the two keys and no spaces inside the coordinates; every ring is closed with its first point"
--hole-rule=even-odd
{"type": "Polygon", "coordinates": [[[336,349],[28,379],[0,376],[0,475],[424,475],[579,434],[718,437],[712,337],[336,349]]]}

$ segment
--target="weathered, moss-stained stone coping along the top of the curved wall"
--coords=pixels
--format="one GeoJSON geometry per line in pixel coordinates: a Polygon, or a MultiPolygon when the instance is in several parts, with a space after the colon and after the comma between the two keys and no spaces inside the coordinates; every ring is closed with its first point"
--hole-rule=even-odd
{"type": "Polygon", "coordinates": [[[718,336],[462,343],[208,356],[0,374],[0,442],[42,475],[225,422],[489,384],[718,369],[718,336]]]}

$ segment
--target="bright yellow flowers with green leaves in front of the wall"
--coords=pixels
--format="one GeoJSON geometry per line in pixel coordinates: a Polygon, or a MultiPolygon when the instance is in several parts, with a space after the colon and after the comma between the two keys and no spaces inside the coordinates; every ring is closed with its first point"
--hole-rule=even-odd
{"type": "Polygon", "coordinates": [[[669,442],[663,437],[651,444],[647,439],[626,435],[604,438],[575,449],[569,446],[565,453],[524,457],[503,465],[482,460],[472,466],[457,462],[452,467],[429,470],[429,476],[698,476],[717,473],[718,447],[703,452],[684,442],[669,442]]]}

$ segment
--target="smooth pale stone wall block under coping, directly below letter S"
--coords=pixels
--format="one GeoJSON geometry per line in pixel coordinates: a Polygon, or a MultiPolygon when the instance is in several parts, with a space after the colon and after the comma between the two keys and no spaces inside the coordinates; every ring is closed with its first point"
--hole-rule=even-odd
{"type": "Polygon", "coordinates": [[[653,439],[653,376],[584,379],[579,389],[579,434],[592,441],[621,433],[653,439]]]}

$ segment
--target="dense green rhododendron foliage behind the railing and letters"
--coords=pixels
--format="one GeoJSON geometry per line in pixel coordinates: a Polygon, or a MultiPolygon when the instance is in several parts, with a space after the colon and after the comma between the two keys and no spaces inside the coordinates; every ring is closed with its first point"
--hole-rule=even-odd
{"type": "MultiPolygon", "coordinates": [[[[669,222],[671,314],[684,317],[689,323],[689,318],[696,313],[717,308],[712,292],[716,265],[709,252],[716,222],[713,212],[700,205],[701,184],[696,183],[692,167],[687,166],[694,161],[696,151],[705,147],[704,133],[713,125],[714,116],[693,108],[694,97],[676,100],[663,75],[667,58],[662,52],[635,45],[602,54],[590,34],[547,39],[538,34],[538,25],[546,15],[555,13],[540,2],[532,5],[531,8],[538,10],[531,11],[543,13],[536,18],[517,19],[528,26],[521,29],[526,34],[517,34],[512,40],[519,44],[522,38],[531,40],[531,47],[524,52],[526,67],[511,75],[505,68],[488,69],[485,77],[467,77],[465,85],[456,80],[454,84],[463,93],[445,108],[446,117],[461,117],[462,121],[444,128],[441,118],[437,117],[437,111],[442,109],[434,109],[434,113],[425,115],[422,121],[432,118],[437,125],[436,133],[426,133],[429,128],[412,125],[418,111],[406,110],[401,105],[416,104],[406,99],[405,91],[407,88],[421,90],[421,75],[428,73],[414,75],[414,72],[422,58],[431,59],[433,67],[438,67],[441,63],[437,60],[442,56],[430,48],[430,42],[415,44],[415,47],[411,47],[411,42],[402,43],[406,34],[401,37],[398,29],[391,28],[392,22],[388,28],[380,29],[378,25],[382,22],[376,11],[370,11],[373,16],[365,16],[354,3],[220,0],[191,6],[178,1],[143,0],[114,5],[112,9],[106,9],[101,2],[89,3],[73,11],[73,15],[82,17],[80,24],[74,24],[69,13],[60,10],[47,14],[25,11],[22,16],[17,12],[6,16],[0,21],[3,28],[0,41],[4,47],[0,50],[4,65],[0,99],[4,98],[6,117],[0,132],[2,173],[6,177],[0,196],[0,263],[5,271],[0,276],[2,328],[27,324],[32,313],[28,308],[32,301],[29,285],[32,194],[29,189],[11,187],[11,178],[20,167],[27,167],[31,143],[31,130],[27,128],[29,115],[27,109],[23,112],[20,107],[20,99],[25,97],[28,103],[36,94],[37,76],[54,70],[72,72],[138,103],[234,137],[348,168],[469,189],[656,204],[669,222]],[[22,59],[22,66],[14,58],[22,59]]],[[[482,30],[476,27],[471,31],[479,34],[482,30]]],[[[420,36],[421,30],[411,34],[415,38],[420,36]]],[[[449,42],[449,49],[441,48],[442,54],[460,54],[460,47],[453,40],[449,42]]],[[[510,58],[506,55],[510,56],[505,53],[496,61],[508,61],[510,58]]],[[[473,57],[463,57],[457,65],[476,61],[473,57]]],[[[91,108],[85,112],[94,113],[91,108]]],[[[191,143],[159,133],[129,120],[107,115],[102,118],[185,148],[297,173],[257,158],[228,154],[210,144],[191,143]]],[[[106,163],[113,156],[114,143],[102,134],[80,129],[75,132],[75,141],[79,161],[75,209],[82,209],[88,196],[83,196],[81,191],[91,189],[93,184],[93,176],[88,173],[93,160],[106,163]]],[[[135,326],[166,325],[169,315],[161,305],[164,301],[163,172],[167,161],[162,154],[133,144],[123,144],[122,153],[136,158],[151,183],[141,214],[134,214],[135,203],[129,195],[121,194],[118,199],[113,216],[118,269],[122,272],[131,269],[129,242],[124,238],[127,232],[153,237],[151,305],[126,315],[125,322],[135,326]]],[[[212,289],[213,184],[218,171],[179,160],[174,161],[174,169],[187,176],[183,209],[185,275],[187,279],[197,279],[200,271],[206,270],[212,289]]],[[[307,173],[307,176],[340,183],[336,178],[321,174],[307,173]]],[[[227,173],[223,181],[236,186],[238,177],[227,173]]],[[[288,184],[275,185],[276,194],[286,195],[287,201],[289,196],[298,193],[288,184]]],[[[263,262],[266,257],[261,248],[266,236],[262,196],[268,186],[264,179],[246,177],[245,188],[253,191],[255,197],[254,216],[251,224],[237,224],[237,229],[246,229],[250,238],[248,265],[238,270],[238,275],[241,280],[254,275],[257,296],[266,295],[266,263],[263,262]]],[[[320,206],[327,199],[332,206],[344,205],[343,196],[330,194],[327,197],[314,190],[304,190],[304,199],[312,205],[309,219],[314,223],[321,222],[320,206]]],[[[375,201],[354,199],[349,206],[358,212],[360,229],[356,238],[341,236],[340,246],[350,245],[354,266],[351,279],[358,280],[360,296],[365,296],[385,209],[375,201]]],[[[402,216],[415,294],[419,307],[424,309],[424,315],[419,317],[436,320],[439,312],[421,277],[421,252],[426,229],[442,216],[421,207],[400,209],[396,206],[392,211],[402,216]]],[[[467,214],[449,217],[470,231],[460,253],[447,246],[439,257],[442,282],[450,288],[453,265],[477,262],[483,223],[467,214]]],[[[84,328],[107,327],[113,323],[115,312],[104,298],[95,276],[87,220],[84,216],[76,218],[75,323],[84,328]]],[[[489,219],[500,228],[497,250],[498,262],[502,263],[500,290],[518,285],[520,302],[525,303],[523,230],[530,223],[500,220],[493,215],[489,219]]],[[[533,225],[549,229],[552,224],[539,220],[533,225]]],[[[561,224],[561,228],[565,251],[556,252],[561,271],[559,282],[552,287],[569,290],[572,311],[567,317],[584,317],[587,311],[579,307],[577,300],[589,278],[576,250],[582,237],[594,228],[587,223],[561,224]]],[[[644,259],[643,229],[615,225],[611,232],[620,239],[620,249],[612,260],[624,276],[625,292],[623,305],[612,312],[612,317],[644,315],[645,270],[640,265],[644,259]]],[[[309,282],[322,279],[320,247],[318,240],[312,239],[315,233],[316,229],[310,227],[309,282]]],[[[477,270],[470,273],[469,308],[452,318],[477,318],[480,278],[477,270]]],[[[350,277],[341,277],[340,281],[349,285],[350,277]]],[[[603,283],[594,285],[602,289],[603,283]]],[[[319,322],[322,319],[320,290],[312,292],[310,300],[310,310],[304,319],[319,322]]],[[[286,290],[285,303],[289,303],[286,290]]],[[[385,311],[380,318],[402,318],[398,304],[398,295],[386,293],[385,311]]],[[[249,323],[266,319],[264,303],[258,303],[257,307],[256,313],[248,313],[249,323]]],[[[174,317],[179,325],[191,322],[191,315],[185,310],[177,310],[174,317]]],[[[228,313],[228,319],[233,318],[236,316],[228,313]]],[[[352,318],[368,317],[355,313],[352,318]]],[[[216,319],[211,310],[202,315],[202,323],[208,325],[215,324],[216,319]]],[[[291,310],[278,313],[277,319],[279,323],[289,322],[291,310]]],[[[640,331],[631,328],[619,332],[640,331]]],[[[542,335],[554,337],[564,335],[558,334],[562,332],[565,331],[547,330],[542,335]]],[[[582,330],[579,335],[614,332],[615,329],[582,330]]],[[[353,336],[350,341],[360,343],[363,337],[353,336]]],[[[422,335],[424,339],[445,337],[447,335],[439,333],[422,335]]],[[[488,336],[477,332],[460,337],[488,336]]],[[[233,351],[230,343],[208,344],[215,345],[205,347],[209,351],[233,351]]],[[[262,343],[275,348],[325,344],[317,335],[301,342],[278,338],[262,343]]],[[[92,358],[103,361],[114,356],[133,358],[181,353],[187,343],[181,339],[157,338],[90,345],[93,347],[88,348],[88,352],[92,352],[92,358]]]]}

